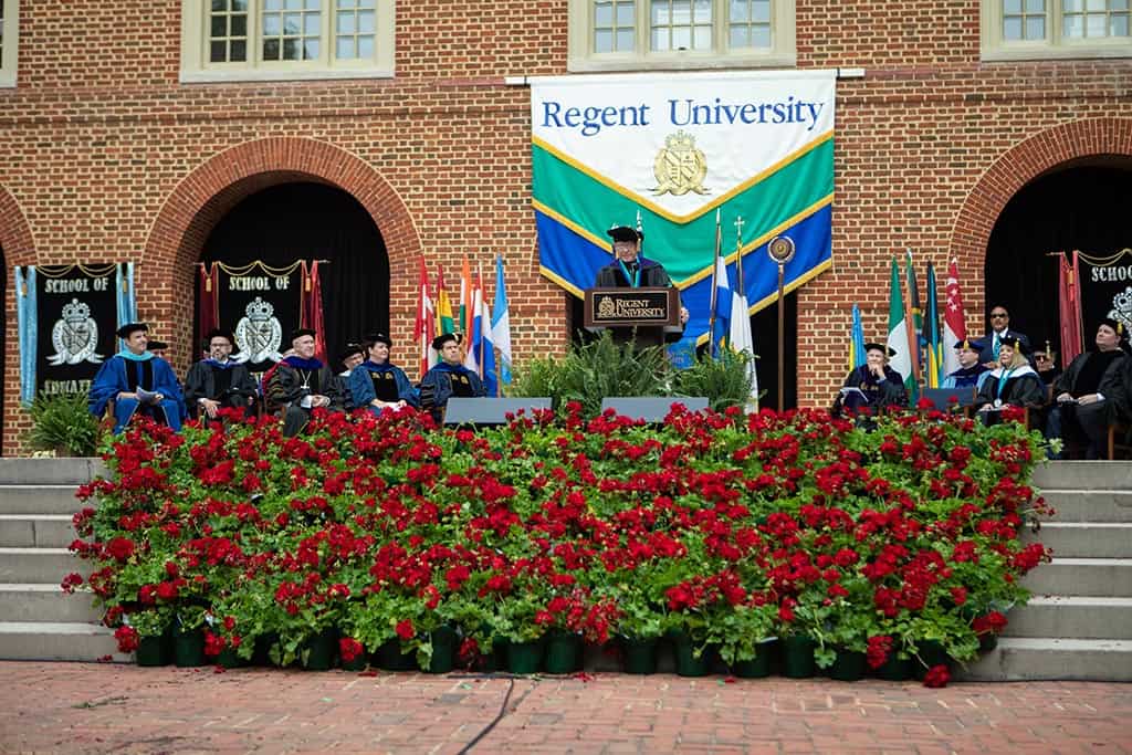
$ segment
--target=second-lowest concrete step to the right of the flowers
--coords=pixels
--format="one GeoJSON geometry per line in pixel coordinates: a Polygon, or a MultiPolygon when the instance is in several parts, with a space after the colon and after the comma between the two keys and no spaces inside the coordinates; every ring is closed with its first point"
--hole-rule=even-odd
{"type": "Polygon", "coordinates": [[[1038,595],[1006,618],[1009,637],[1132,641],[1132,598],[1038,595]]]}

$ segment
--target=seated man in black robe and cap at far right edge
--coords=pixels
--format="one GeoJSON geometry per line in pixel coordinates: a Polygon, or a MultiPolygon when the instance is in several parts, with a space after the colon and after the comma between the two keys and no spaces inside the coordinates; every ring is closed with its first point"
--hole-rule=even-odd
{"type": "Polygon", "coordinates": [[[1097,328],[1096,351],[1079,354],[1054,381],[1057,405],[1047,428],[1050,434],[1061,430],[1071,457],[1080,457],[1086,446],[1086,458],[1101,458],[1108,427],[1129,420],[1125,362],[1130,358],[1121,350],[1126,340],[1123,323],[1104,320],[1097,328]]]}

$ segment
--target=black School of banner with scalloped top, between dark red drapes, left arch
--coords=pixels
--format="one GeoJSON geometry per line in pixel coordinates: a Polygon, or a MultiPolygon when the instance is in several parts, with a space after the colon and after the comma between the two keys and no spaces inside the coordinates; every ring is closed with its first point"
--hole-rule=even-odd
{"type": "Polygon", "coordinates": [[[232,357],[254,375],[263,372],[291,348],[291,331],[301,323],[302,260],[286,267],[216,263],[216,268],[220,325],[235,335],[232,357]]]}

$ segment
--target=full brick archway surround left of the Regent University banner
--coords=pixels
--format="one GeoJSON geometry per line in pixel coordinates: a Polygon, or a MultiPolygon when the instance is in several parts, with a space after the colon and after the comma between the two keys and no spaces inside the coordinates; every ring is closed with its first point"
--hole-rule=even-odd
{"type": "MultiPolygon", "coordinates": [[[[366,208],[381,232],[389,256],[391,320],[412,317],[412,263],[420,235],[396,190],[367,162],[326,141],[276,137],[240,144],[185,177],[157,214],[142,256],[137,292],[142,317],[189,343],[194,274],[209,232],[240,200],[280,183],[314,181],[340,188],[366,208]],[[168,271],[160,274],[157,271],[168,271]]],[[[188,364],[177,349],[177,367],[188,364]]]]}

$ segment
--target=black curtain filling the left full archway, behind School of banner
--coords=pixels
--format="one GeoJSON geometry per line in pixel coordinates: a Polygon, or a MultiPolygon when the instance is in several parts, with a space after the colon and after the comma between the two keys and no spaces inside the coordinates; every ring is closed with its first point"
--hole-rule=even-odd
{"type": "MultiPolygon", "coordinates": [[[[232,208],[213,229],[200,254],[204,263],[245,265],[255,259],[274,267],[295,259],[331,260],[320,266],[319,275],[327,357],[336,371],[342,369],[336,359],[346,342],[371,331],[389,333],[385,241],[369,213],[345,191],[320,183],[265,189],[232,208]]],[[[235,323],[221,325],[235,327],[235,323]]],[[[411,334],[389,335],[402,346],[402,358],[409,354],[404,348],[411,334]]]]}

